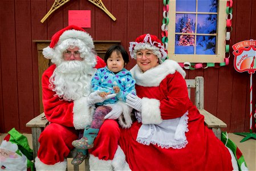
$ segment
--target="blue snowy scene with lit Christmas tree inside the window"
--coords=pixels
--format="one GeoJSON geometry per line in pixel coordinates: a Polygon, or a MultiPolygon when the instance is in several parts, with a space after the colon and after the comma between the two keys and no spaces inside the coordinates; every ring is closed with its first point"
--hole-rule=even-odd
{"type": "Polygon", "coordinates": [[[177,0],[178,11],[182,11],[184,14],[176,13],[175,54],[216,54],[217,14],[189,14],[186,11],[188,3],[193,6],[196,1],[198,1],[198,11],[196,12],[217,12],[217,0],[177,0]],[[182,6],[182,3],[186,3],[186,5],[182,6]],[[195,23],[196,21],[197,23],[195,23]]]}

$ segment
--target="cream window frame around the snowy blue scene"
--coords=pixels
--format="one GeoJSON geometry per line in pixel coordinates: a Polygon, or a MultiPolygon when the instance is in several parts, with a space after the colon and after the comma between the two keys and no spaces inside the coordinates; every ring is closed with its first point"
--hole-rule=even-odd
{"type": "MultiPolygon", "coordinates": [[[[197,1],[197,0],[195,0],[197,1]]],[[[217,30],[216,30],[216,54],[215,55],[197,55],[197,54],[175,54],[175,27],[176,27],[176,1],[169,1],[169,25],[168,25],[168,58],[178,63],[222,63],[225,59],[225,41],[226,41],[226,2],[227,0],[218,0],[217,9],[217,30]]],[[[196,3],[197,5],[197,3],[196,3]]],[[[197,6],[196,6],[197,9],[197,6]]],[[[180,13],[180,12],[178,12],[180,13]]],[[[192,14],[188,12],[189,14],[192,14]]],[[[182,13],[184,14],[184,13],[182,13]]],[[[193,13],[204,14],[204,13],[193,13]]],[[[206,13],[209,14],[209,13],[206,13]]],[[[211,13],[210,13],[211,14],[211,13]]],[[[215,13],[213,13],[215,14],[215,13]]],[[[197,25],[197,21],[196,21],[197,25]]],[[[207,34],[204,34],[207,35],[207,34]]],[[[196,44],[194,45],[196,46],[196,44]]]]}

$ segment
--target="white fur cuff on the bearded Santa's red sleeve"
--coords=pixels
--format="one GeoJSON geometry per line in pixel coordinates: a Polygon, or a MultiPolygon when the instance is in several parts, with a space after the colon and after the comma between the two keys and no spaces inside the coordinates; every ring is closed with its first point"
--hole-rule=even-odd
{"type": "Polygon", "coordinates": [[[87,97],[74,101],[73,120],[76,129],[84,129],[92,121],[93,108],[88,106],[87,97]]]}

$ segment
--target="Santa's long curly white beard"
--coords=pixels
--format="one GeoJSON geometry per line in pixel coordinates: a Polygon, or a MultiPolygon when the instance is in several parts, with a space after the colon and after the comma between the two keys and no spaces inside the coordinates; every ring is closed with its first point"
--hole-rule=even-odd
{"type": "Polygon", "coordinates": [[[84,61],[64,61],[55,68],[49,87],[64,100],[80,99],[90,94],[91,76],[94,71],[92,66],[84,61]]]}

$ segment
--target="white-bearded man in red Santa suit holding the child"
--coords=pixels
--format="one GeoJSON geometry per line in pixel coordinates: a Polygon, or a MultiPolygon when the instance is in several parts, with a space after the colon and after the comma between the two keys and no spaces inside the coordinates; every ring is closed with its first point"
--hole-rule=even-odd
{"type": "Polygon", "coordinates": [[[91,123],[94,104],[103,101],[97,92],[91,93],[91,76],[105,63],[96,56],[91,36],[77,26],[56,32],[43,55],[54,63],[42,76],[44,113],[50,125],[39,137],[35,167],[66,170],[72,141],[91,123]]]}

